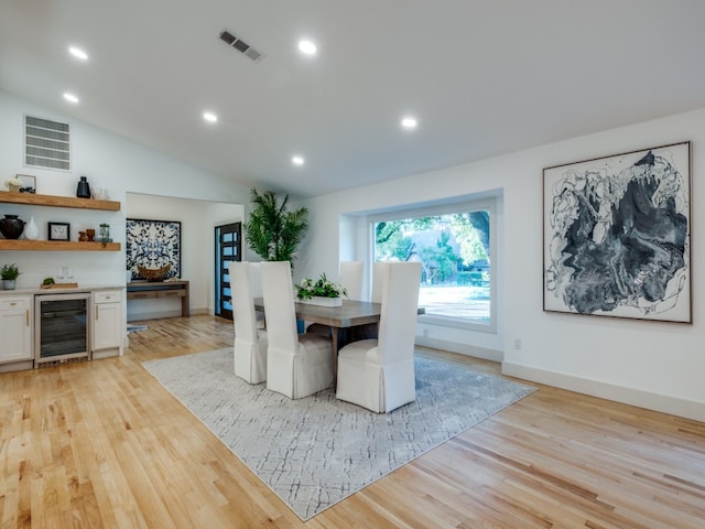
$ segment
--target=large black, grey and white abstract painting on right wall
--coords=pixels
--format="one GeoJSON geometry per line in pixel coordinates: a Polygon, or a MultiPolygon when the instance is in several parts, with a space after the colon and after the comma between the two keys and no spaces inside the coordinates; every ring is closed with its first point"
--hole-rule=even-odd
{"type": "Polygon", "coordinates": [[[692,323],[691,143],[543,170],[543,310],[692,323]]]}

